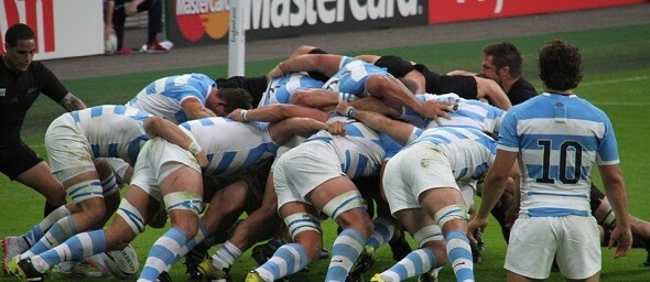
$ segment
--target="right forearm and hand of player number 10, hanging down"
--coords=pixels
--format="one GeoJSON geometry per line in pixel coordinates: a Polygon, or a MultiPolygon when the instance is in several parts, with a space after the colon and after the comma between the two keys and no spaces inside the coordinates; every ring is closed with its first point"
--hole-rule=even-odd
{"type": "Polygon", "coordinates": [[[630,250],[632,243],[625,181],[618,164],[598,165],[598,171],[600,172],[600,178],[605,186],[605,194],[616,215],[616,227],[611,231],[611,239],[609,240],[608,247],[613,248],[616,246],[614,258],[620,258],[630,250]]]}

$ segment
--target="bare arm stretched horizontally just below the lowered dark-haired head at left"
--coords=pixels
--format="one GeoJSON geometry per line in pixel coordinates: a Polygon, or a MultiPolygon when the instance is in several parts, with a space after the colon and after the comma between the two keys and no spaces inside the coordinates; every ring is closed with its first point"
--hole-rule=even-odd
{"type": "Polygon", "coordinates": [[[297,105],[289,104],[278,104],[259,107],[250,110],[236,109],[228,115],[229,119],[243,122],[252,120],[264,122],[278,122],[293,117],[312,118],[314,120],[324,122],[327,120],[327,118],[329,118],[329,113],[310,107],[301,107],[297,105]]]}

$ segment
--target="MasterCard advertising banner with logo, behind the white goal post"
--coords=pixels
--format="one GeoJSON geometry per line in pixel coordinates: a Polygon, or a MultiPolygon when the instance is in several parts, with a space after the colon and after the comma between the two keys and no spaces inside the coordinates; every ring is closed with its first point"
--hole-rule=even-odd
{"type": "MultiPolygon", "coordinates": [[[[245,0],[246,39],[427,24],[427,0],[245,0]]],[[[166,36],[175,45],[228,40],[232,1],[170,0],[166,36]]]]}

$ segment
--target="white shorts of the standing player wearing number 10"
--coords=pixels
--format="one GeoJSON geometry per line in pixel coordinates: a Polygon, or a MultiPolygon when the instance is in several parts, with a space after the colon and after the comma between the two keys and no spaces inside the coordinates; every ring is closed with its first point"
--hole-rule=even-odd
{"type": "Polygon", "coordinates": [[[517,274],[546,279],[556,258],[568,279],[600,271],[600,239],[594,217],[519,217],[510,231],[503,268],[517,274]]]}

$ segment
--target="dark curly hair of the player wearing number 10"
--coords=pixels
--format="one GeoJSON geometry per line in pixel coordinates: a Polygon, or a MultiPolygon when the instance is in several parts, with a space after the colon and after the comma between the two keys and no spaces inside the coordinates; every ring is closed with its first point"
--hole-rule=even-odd
{"type": "Polygon", "coordinates": [[[583,79],[583,56],[576,46],[561,40],[546,43],[540,51],[540,79],[551,90],[576,88],[583,79]]]}

